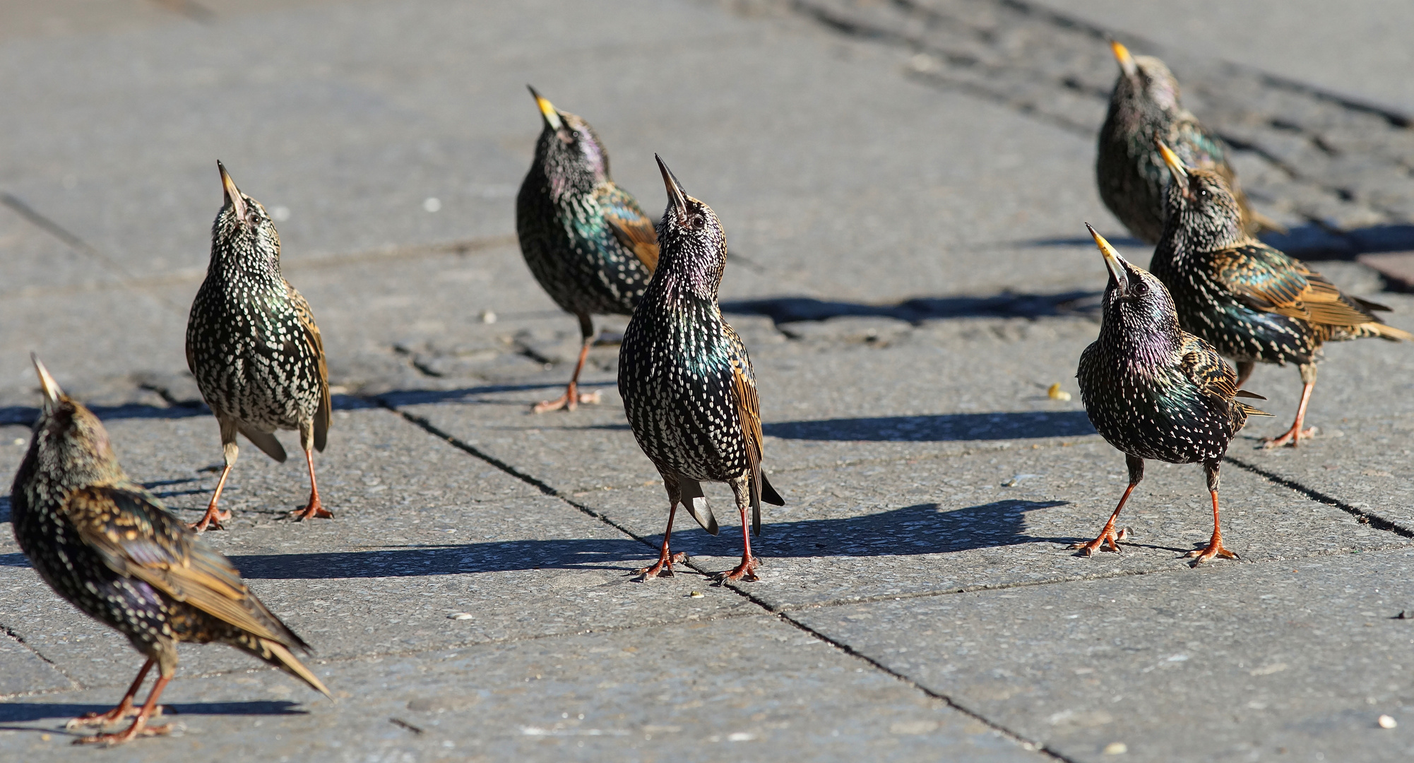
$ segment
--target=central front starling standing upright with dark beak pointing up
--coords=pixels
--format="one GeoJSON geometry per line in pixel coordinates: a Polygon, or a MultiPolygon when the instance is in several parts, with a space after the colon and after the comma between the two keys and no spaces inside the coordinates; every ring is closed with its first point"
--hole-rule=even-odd
{"type": "MultiPolygon", "coordinates": [[[[656,154],[655,154],[656,157],[656,154]]],[[[659,224],[662,268],[624,331],[619,347],[619,395],[639,447],[667,488],[667,529],[658,563],[645,578],[672,575],[667,549],[677,504],[715,535],[717,518],[701,483],[727,483],[741,512],[741,563],[727,580],[755,580],[751,532],[761,535],[761,501],[785,501],[761,473],[761,403],[756,377],[741,337],[727,326],[717,287],[727,266],[727,234],[717,215],[683,193],[658,160],[667,187],[659,224]],[[751,524],[747,524],[751,508],[751,524]]]]}

